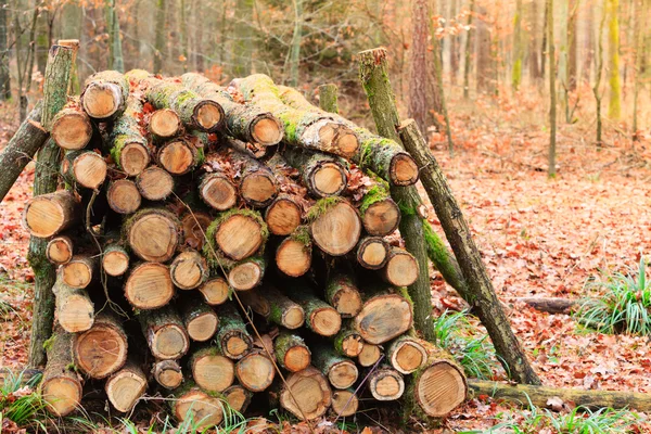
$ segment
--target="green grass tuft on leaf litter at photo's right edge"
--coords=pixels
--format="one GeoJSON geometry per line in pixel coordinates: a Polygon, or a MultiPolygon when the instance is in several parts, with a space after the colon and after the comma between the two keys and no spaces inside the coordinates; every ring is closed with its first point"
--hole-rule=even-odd
{"type": "Polygon", "coordinates": [[[582,324],[601,333],[651,335],[651,281],[643,256],[637,270],[604,272],[589,286],[601,295],[586,298],[576,310],[582,324]]]}

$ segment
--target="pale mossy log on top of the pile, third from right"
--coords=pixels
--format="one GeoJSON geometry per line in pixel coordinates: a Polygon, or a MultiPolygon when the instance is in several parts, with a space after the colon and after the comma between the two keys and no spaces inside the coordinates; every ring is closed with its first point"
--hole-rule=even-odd
{"type": "Polygon", "coordinates": [[[201,74],[183,74],[181,82],[201,97],[221,105],[226,115],[226,128],[232,137],[263,146],[271,146],[282,140],[282,126],[271,113],[255,104],[235,102],[226,89],[201,74]]]}

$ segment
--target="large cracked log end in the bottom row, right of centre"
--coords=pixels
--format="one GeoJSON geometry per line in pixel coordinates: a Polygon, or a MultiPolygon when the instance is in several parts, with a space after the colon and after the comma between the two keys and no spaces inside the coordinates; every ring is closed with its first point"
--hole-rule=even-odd
{"type": "Polygon", "coordinates": [[[288,376],[280,393],[282,408],[301,420],[314,420],[326,413],[332,404],[332,391],[326,376],[309,367],[288,376]]]}

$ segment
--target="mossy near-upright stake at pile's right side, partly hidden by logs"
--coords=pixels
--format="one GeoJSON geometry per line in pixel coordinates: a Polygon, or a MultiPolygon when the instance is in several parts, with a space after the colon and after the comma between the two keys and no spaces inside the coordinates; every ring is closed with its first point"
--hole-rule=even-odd
{"type": "MultiPolygon", "coordinates": [[[[387,71],[385,49],[359,53],[359,77],[367,93],[378,132],[380,136],[400,143],[396,130],[399,125],[398,111],[387,71]]],[[[427,252],[422,242],[424,239],[423,226],[419,216],[420,196],[416,187],[392,187],[391,194],[400,204],[403,218],[399,228],[405,239],[405,246],[413,255],[420,269],[418,279],[408,288],[409,295],[413,301],[414,326],[426,340],[433,341],[432,294],[430,272],[427,271],[427,252]]]]}

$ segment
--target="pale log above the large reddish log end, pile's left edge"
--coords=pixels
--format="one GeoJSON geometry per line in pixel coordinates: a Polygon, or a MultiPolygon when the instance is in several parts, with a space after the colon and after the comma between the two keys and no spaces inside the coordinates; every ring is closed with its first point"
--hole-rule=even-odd
{"type": "Polygon", "coordinates": [[[85,332],[92,327],[94,306],[88,293],[56,280],[52,292],[56,297],[56,319],[68,333],[85,332]]]}

